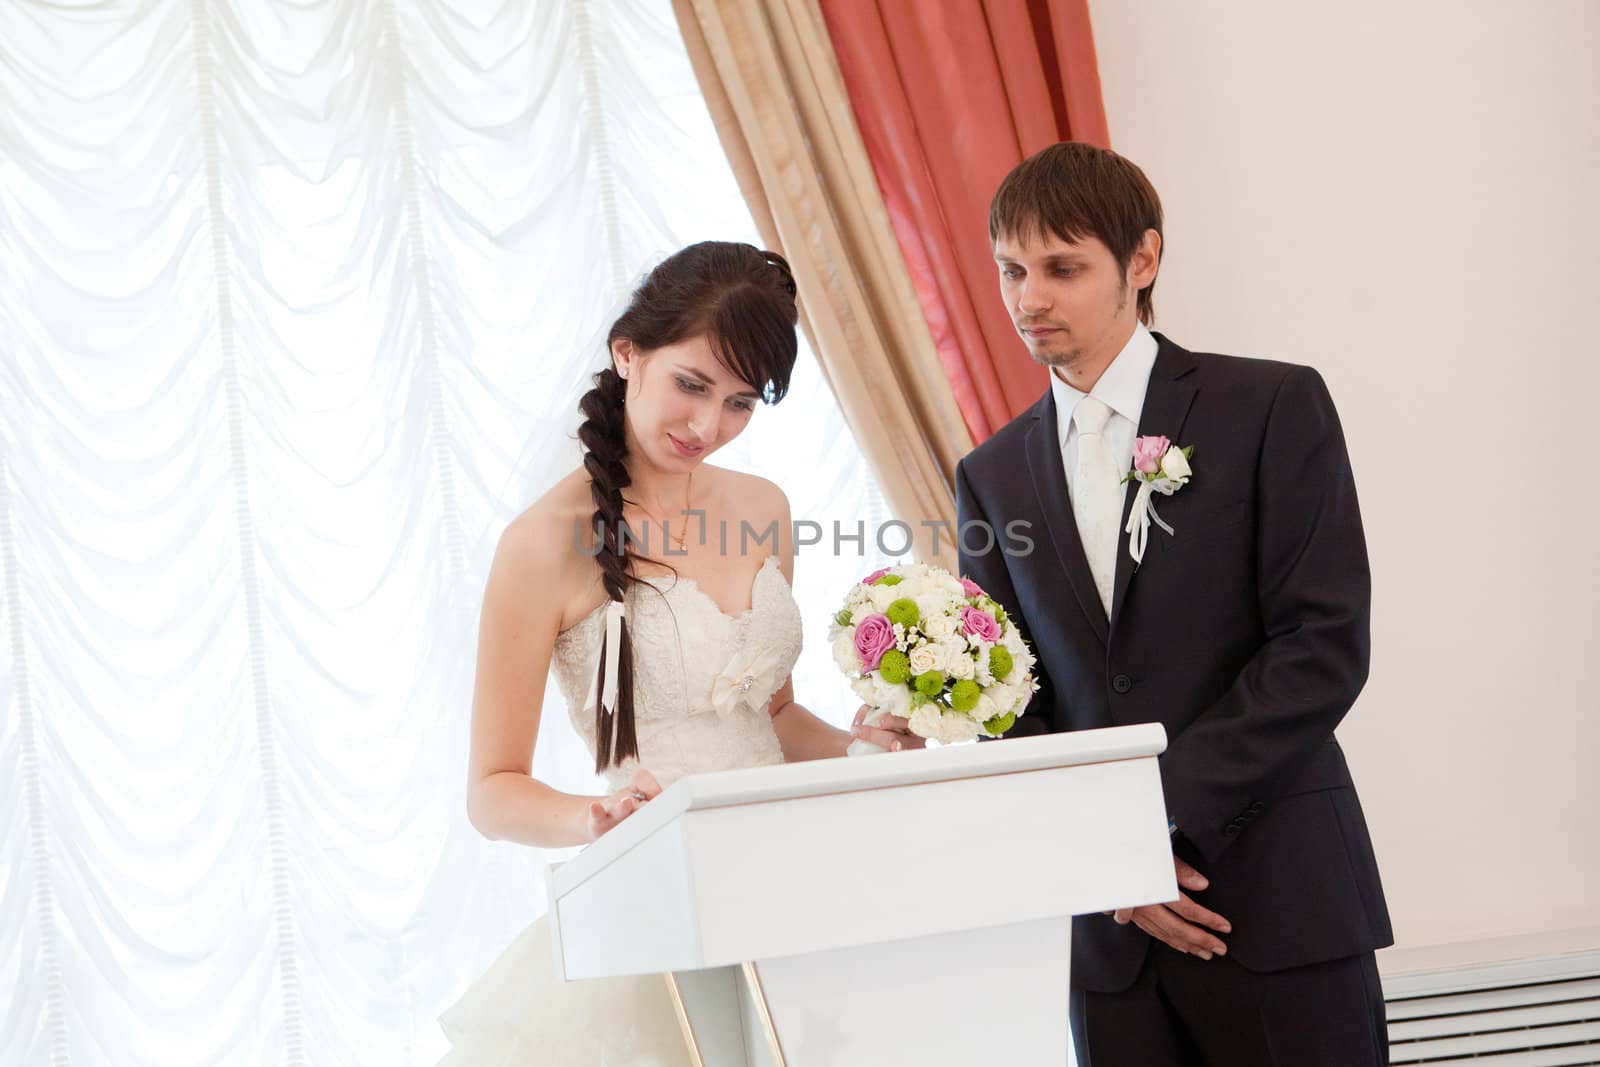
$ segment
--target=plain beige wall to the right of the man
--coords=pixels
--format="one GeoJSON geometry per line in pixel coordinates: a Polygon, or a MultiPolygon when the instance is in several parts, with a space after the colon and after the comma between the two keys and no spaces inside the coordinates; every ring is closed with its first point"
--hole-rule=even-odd
{"type": "Polygon", "coordinates": [[[1402,945],[1600,925],[1600,2],[1093,0],[1157,328],[1310,363],[1374,577],[1402,945]]]}

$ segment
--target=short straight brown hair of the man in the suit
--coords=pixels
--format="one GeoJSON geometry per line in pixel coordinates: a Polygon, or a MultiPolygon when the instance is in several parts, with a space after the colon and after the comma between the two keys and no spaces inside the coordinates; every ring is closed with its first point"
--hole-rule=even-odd
{"type": "MultiPolygon", "coordinates": [[[[1011,168],[989,203],[990,245],[1002,237],[1046,232],[1074,243],[1094,237],[1110,250],[1123,277],[1146,230],[1162,235],[1155,186],[1134,163],[1083,141],[1062,141],[1027,157],[1011,168]]],[[[1155,318],[1154,293],[1154,278],[1139,290],[1144,325],[1155,318]]]]}

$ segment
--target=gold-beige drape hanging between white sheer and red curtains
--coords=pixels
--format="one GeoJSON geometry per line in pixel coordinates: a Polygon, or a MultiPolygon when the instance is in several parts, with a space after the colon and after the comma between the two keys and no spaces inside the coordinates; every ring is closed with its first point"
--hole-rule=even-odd
{"type": "Polygon", "coordinates": [[[762,240],[794,266],[822,374],[890,509],[917,534],[917,557],[954,571],[955,461],[971,437],[821,10],[816,0],[674,0],[674,11],[762,240]],[[936,555],[923,522],[950,523],[936,555]]]}

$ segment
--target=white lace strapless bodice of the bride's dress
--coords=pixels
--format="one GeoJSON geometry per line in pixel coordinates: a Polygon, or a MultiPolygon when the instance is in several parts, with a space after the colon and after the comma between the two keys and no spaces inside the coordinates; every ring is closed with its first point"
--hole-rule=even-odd
{"type": "MultiPolygon", "coordinates": [[[[606,771],[621,789],[645,766],[662,789],[704,771],[782,763],[768,702],[800,657],[800,608],[778,557],[762,561],[750,608],[730,616],[693,577],[646,577],[627,600],[634,648],[638,760],[606,771]]],[[[573,726],[595,752],[594,705],[584,707],[600,659],[605,605],[555,638],[555,678],[573,726]]]]}

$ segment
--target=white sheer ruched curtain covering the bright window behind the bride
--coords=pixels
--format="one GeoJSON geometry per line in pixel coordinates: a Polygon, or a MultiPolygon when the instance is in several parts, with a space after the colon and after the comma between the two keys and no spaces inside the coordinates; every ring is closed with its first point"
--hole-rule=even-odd
{"type": "MultiPolygon", "coordinates": [[[[462,813],[488,553],[706,237],[754,227],[666,0],[0,5],[0,1062],[434,1061],[544,905],[462,813]]],[[[808,360],[725,461],[883,517],[808,360]]],[[[878,552],[826,547],[843,720],[878,552]]]]}

